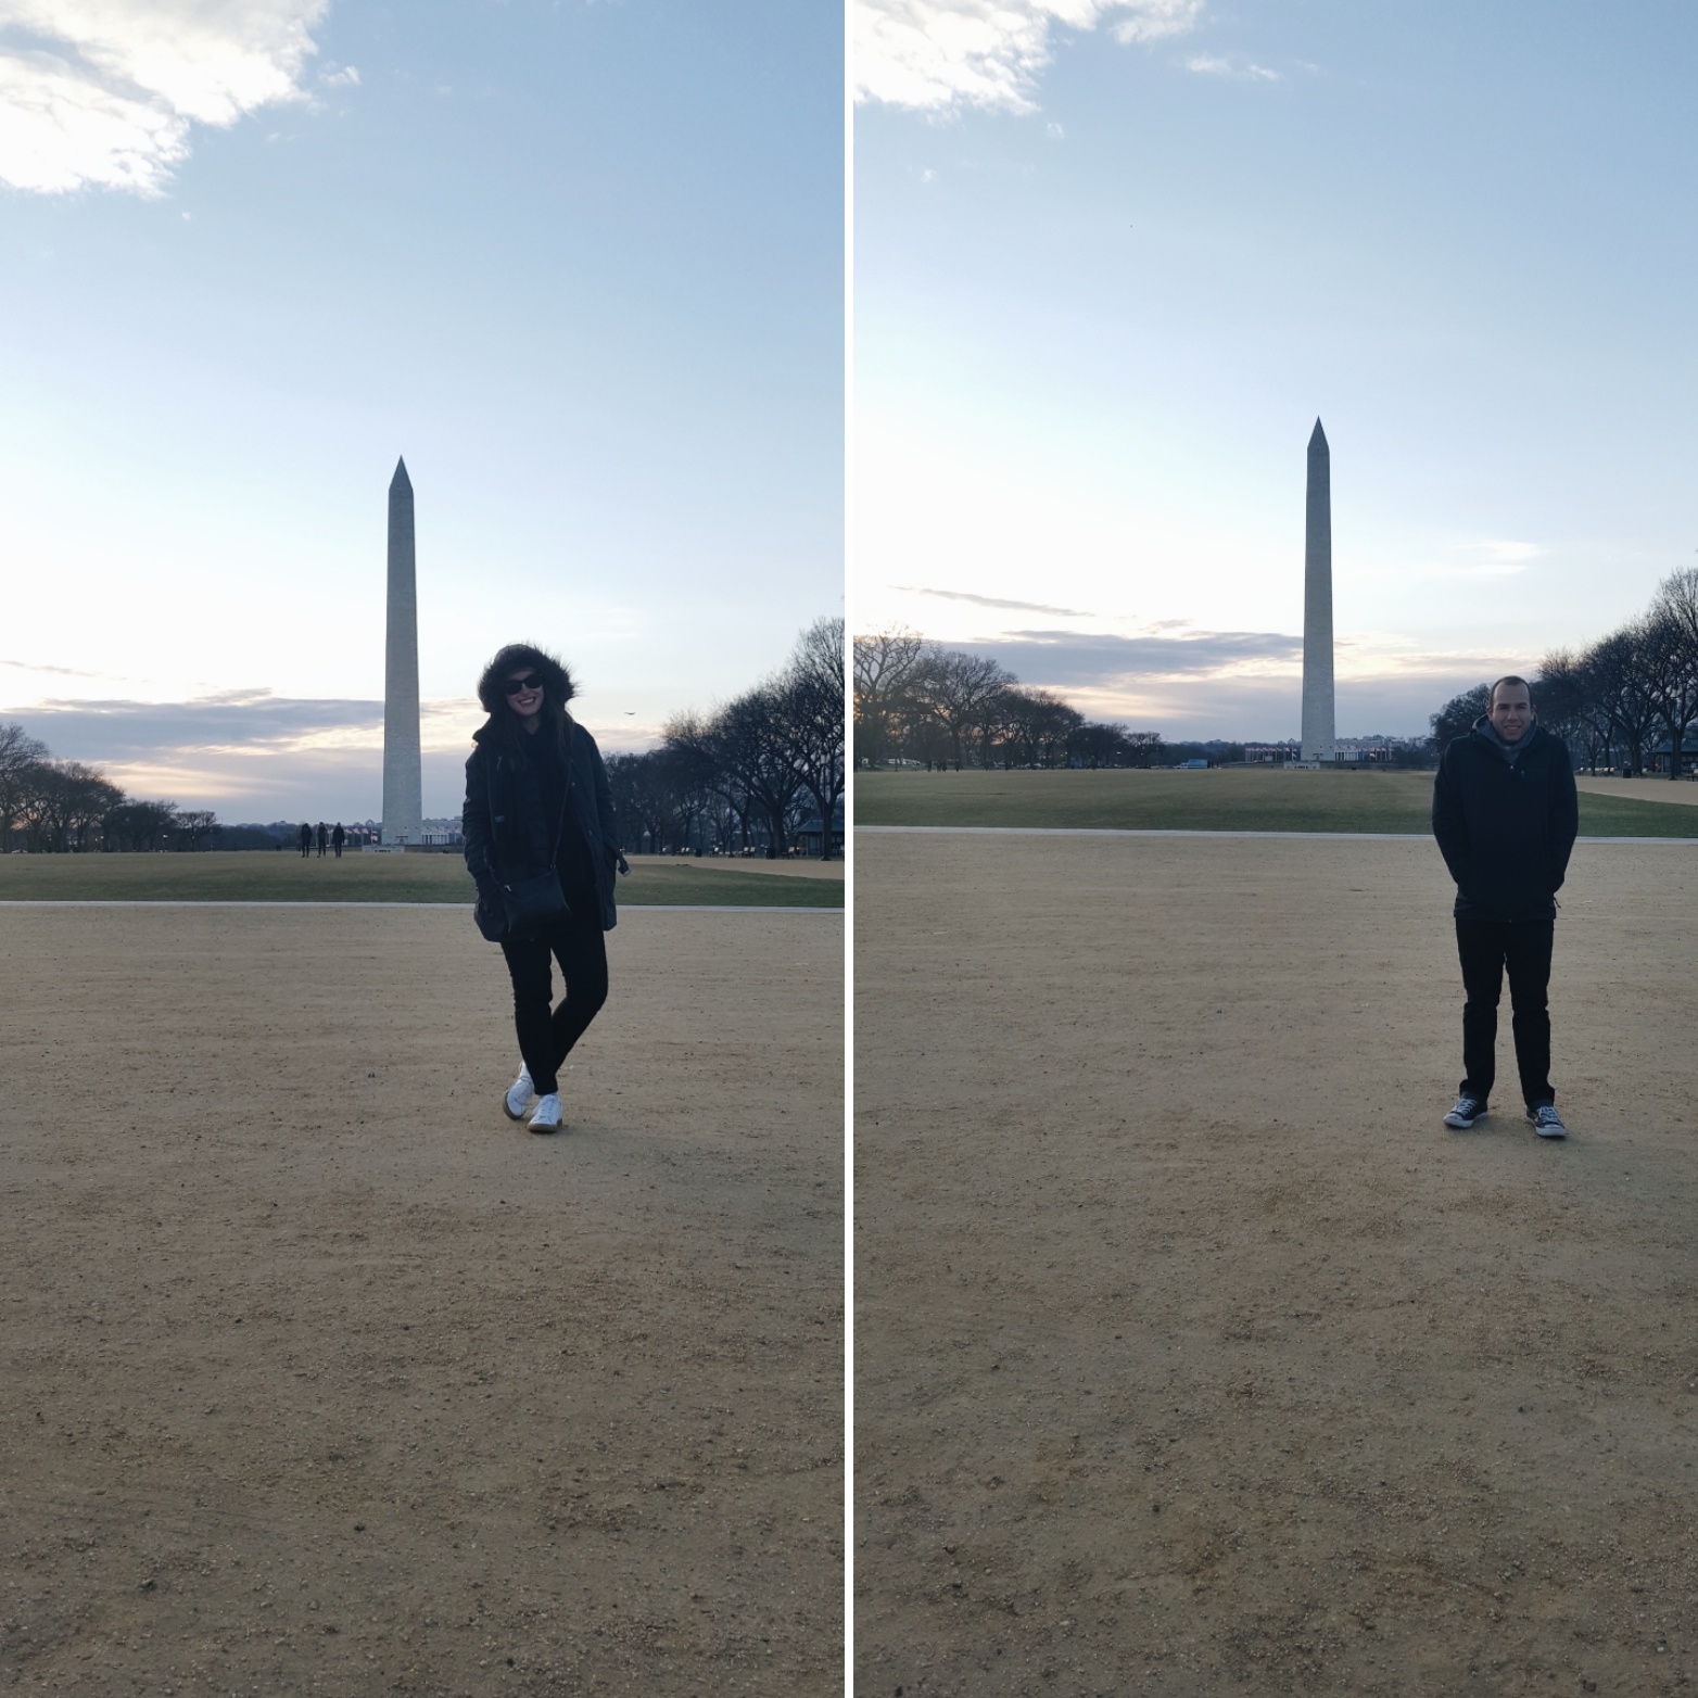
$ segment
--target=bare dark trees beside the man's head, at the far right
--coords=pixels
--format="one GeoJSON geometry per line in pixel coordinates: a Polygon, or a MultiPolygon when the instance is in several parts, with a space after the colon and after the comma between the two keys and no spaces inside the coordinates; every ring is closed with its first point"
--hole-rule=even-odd
{"type": "MultiPolygon", "coordinates": [[[[1489,689],[1477,684],[1433,715],[1440,749],[1486,711],[1489,689]]],[[[1671,572],[1620,630],[1545,655],[1533,706],[1591,771],[1654,766],[1681,778],[1698,764],[1698,567],[1671,572]]]]}

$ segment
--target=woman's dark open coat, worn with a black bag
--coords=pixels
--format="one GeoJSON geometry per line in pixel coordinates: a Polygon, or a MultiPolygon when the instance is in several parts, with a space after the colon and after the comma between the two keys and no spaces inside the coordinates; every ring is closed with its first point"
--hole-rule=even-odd
{"type": "MultiPolygon", "coordinates": [[[[535,735],[545,737],[547,727],[535,735]]],[[[548,869],[555,820],[543,813],[535,762],[506,747],[492,723],[472,734],[472,756],[465,762],[465,810],[460,815],[465,868],[477,880],[479,905],[489,914],[501,914],[496,890],[499,883],[535,878],[548,869]]],[[[620,864],[613,793],[608,790],[608,769],[601,764],[596,739],[576,720],[565,757],[565,805],[589,847],[601,929],[611,932],[618,922],[613,874],[620,864]]]]}

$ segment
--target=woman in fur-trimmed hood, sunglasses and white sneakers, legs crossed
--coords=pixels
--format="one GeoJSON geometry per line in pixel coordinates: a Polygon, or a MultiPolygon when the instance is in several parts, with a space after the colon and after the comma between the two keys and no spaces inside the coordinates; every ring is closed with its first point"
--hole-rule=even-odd
{"type": "Polygon", "coordinates": [[[503,649],[477,681],[489,720],[465,762],[465,866],[477,929],[501,944],[525,1065],[503,1097],[533,1133],[564,1124],[559,1070],[608,997],[604,932],[616,920],[615,868],[628,873],[601,751],[565,705],[572,676],[530,644],[503,649]],[[540,912],[550,905],[555,912],[540,912]],[[565,997],[550,1012],[550,956],[565,997]]]}

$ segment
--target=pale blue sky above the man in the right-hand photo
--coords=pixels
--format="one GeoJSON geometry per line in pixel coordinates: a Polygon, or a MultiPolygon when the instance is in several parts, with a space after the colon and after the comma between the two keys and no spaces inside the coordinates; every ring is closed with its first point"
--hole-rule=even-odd
{"type": "Polygon", "coordinates": [[[857,76],[910,104],[857,109],[859,628],[1296,735],[1316,416],[1341,735],[1425,732],[1693,564],[1690,8],[1049,10],[998,48],[927,0],[978,20],[961,71],[863,3],[857,76]]]}

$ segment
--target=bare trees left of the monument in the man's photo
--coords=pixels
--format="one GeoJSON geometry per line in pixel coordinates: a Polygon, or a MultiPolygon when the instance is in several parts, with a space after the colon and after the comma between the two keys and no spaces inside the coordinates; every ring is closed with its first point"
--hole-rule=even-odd
{"type": "Polygon", "coordinates": [[[987,655],[905,627],[854,640],[859,766],[1150,766],[1160,752],[1158,732],[1087,720],[987,655]]]}

